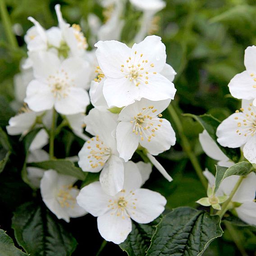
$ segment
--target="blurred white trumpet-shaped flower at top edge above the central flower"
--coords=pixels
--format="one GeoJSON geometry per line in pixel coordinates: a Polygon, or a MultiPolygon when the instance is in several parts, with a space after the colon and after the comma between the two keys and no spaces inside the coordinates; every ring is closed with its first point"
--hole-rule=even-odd
{"type": "Polygon", "coordinates": [[[141,27],[135,37],[135,42],[142,41],[149,34],[154,15],[165,8],[163,0],[130,0],[130,2],[143,12],[141,27]]]}

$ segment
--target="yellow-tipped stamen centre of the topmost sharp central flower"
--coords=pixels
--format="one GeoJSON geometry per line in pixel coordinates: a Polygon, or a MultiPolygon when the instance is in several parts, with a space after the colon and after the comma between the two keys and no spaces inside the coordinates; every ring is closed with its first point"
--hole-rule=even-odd
{"type": "Polygon", "coordinates": [[[147,59],[143,58],[143,53],[138,54],[137,51],[134,51],[134,54],[128,57],[126,63],[121,65],[120,71],[125,74],[125,78],[138,87],[140,84],[149,83],[149,76],[156,74],[156,72],[151,72],[154,67],[154,63],[150,64],[147,59]]]}

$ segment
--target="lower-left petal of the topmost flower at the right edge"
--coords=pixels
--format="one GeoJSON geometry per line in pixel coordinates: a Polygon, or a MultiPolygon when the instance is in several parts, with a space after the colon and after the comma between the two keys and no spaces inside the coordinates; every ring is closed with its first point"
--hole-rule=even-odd
{"type": "MultiPolygon", "coordinates": [[[[254,77],[255,78],[255,77],[254,77]]],[[[256,84],[248,71],[235,75],[229,82],[231,95],[238,99],[251,100],[256,98],[256,84]]]]}

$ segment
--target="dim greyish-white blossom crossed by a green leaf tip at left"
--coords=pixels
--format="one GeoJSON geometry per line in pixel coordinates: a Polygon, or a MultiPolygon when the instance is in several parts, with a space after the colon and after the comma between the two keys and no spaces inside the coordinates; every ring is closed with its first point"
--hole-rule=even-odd
{"type": "MultiPolygon", "coordinates": [[[[27,157],[27,163],[37,163],[49,160],[49,154],[42,150],[36,149],[29,152],[27,157]]],[[[27,178],[30,180],[32,185],[36,188],[40,187],[40,181],[45,173],[44,169],[37,167],[27,167],[27,178]]]]}

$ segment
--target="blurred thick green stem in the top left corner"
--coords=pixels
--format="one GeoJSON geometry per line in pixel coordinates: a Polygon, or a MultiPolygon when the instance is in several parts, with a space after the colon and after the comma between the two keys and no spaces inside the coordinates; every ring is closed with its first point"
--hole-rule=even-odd
{"type": "Polygon", "coordinates": [[[10,17],[5,5],[5,0],[0,0],[0,13],[1,13],[1,18],[2,18],[4,28],[5,28],[5,34],[10,46],[12,46],[13,48],[18,48],[18,42],[13,33],[12,24],[11,24],[10,17]]]}

